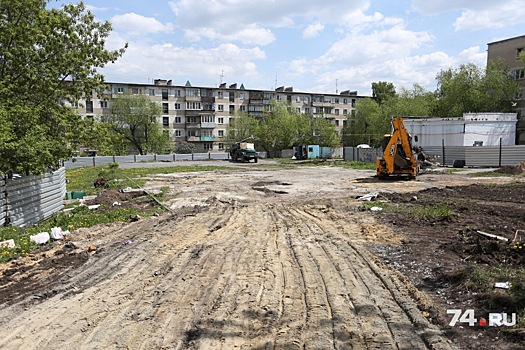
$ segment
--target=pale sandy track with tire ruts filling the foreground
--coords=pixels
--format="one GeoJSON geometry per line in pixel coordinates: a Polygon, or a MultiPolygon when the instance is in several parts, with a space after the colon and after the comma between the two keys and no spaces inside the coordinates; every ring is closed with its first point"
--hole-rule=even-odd
{"type": "Polygon", "coordinates": [[[64,291],[0,310],[0,348],[439,348],[344,224],[300,205],[214,203],[102,229],[64,291]]]}

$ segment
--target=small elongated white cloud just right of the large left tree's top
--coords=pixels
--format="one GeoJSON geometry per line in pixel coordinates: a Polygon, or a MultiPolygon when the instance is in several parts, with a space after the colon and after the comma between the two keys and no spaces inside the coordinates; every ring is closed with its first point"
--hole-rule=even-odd
{"type": "Polygon", "coordinates": [[[155,18],[144,17],[136,13],[115,15],[111,18],[111,23],[117,31],[133,35],[173,32],[173,24],[162,24],[155,18]]]}

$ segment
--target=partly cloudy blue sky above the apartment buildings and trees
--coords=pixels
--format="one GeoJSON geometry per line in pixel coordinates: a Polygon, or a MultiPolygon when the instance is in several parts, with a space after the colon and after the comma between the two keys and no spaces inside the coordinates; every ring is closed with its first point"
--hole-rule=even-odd
{"type": "MultiPolygon", "coordinates": [[[[56,1],[56,0],[55,0],[56,1]]],[[[52,1],[53,2],[53,1],[52,1]]],[[[78,1],[58,0],[60,3],[78,1]]],[[[441,70],[486,67],[487,44],[525,35],[522,0],[84,0],[126,53],[108,82],[372,94],[436,89],[441,70]]]]}

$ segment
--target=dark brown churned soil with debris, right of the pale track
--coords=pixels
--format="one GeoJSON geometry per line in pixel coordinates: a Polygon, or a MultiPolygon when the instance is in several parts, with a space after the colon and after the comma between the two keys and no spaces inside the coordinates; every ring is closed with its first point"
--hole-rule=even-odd
{"type": "Polygon", "coordinates": [[[482,293],[472,293],[466,283],[466,271],[473,267],[519,269],[525,265],[525,254],[513,248],[515,241],[525,240],[525,183],[381,195],[394,209],[377,213],[376,217],[403,233],[405,240],[399,245],[369,248],[406,275],[414,286],[435,297],[432,317],[447,329],[455,343],[465,348],[520,349],[514,344],[525,341],[525,334],[504,332],[498,327],[450,327],[451,315],[446,310],[474,309],[479,316],[483,312],[516,312],[525,308],[523,298],[512,298],[502,291],[499,301],[488,301],[482,293]],[[490,239],[478,231],[508,241],[490,239]],[[474,340],[462,341],[463,337],[474,340]]]}

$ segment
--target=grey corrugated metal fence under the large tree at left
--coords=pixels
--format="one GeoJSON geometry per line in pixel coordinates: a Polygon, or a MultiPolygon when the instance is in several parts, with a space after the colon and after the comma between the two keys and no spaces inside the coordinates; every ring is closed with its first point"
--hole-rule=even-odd
{"type": "Polygon", "coordinates": [[[0,180],[0,225],[26,226],[64,208],[66,168],[43,176],[0,180]]]}

